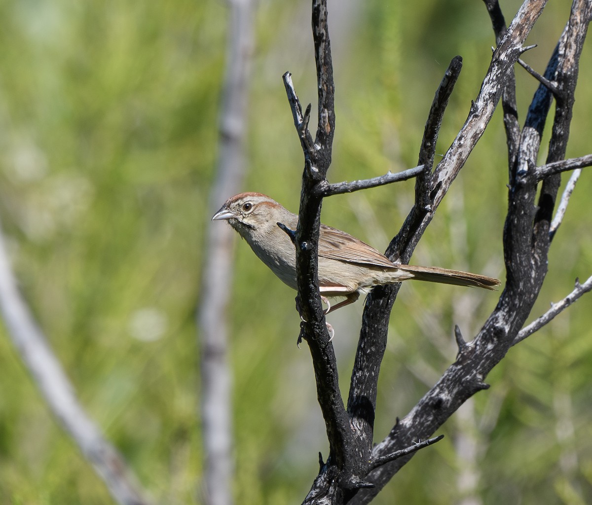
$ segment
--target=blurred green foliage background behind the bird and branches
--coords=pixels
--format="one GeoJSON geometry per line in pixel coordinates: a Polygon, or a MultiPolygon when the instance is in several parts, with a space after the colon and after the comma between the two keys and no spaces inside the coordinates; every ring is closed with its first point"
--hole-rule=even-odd
{"type": "MultiPolygon", "coordinates": [[[[519,3],[502,2],[507,20],[519,3]]],[[[303,166],[285,98],[315,75],[310,2],[259,2],[244,190],[296,211],[303,166]]],[[[337,129],[333,182],[417,162],[435,89],[464,70],[440,134],[445,152],[494,44],[481,2],[330,2],[337,129]]],[[[569,2],[549,2],[525,59],[542,72],[569,2]]],[[[83,405],[158,503],[200,503],[200,298],[228,10],[214,0],[0,2],[0,216],[20,287],[83,405]]],[[[584,47],[568,156],[590,153],[591,44],[584,47]]],[[[536,82],[517,68],[521,120],[536,82]]],[[[314,110],[314,107],[313,107],[314,110]]],[[[417,264],[503,278],[507,155],[501,111],[414,255],[417,264]]],[[[522,121],[521,121],[522,122],[522,121]]],[[[548,139],[548,133],[545,137],[548,139]]],[[[546,140],[539,162],[544,160],[546,140]]],[[[592,271],[592,178],[555,237],[532,316],[592,271]]],[[[383,249],[413,197],[404,182],[324,202],[323,221],[383,249]]],[[[230,195],[229,195],[230,196],[230,195]]],[[[222,202],[220,202],[221,204],[222,202]]],[[[219,226],[226,226],[218,223],[219,226]]],[[[295,293],[236,244],[232,287],[240,504],[300,503],[327,455],[295,293]]],[[[497,294],[408,283],[391,317],[377,440],[455,358],[453,325],[475,334],[497,294]]],[[[514,349],[375,503],[592,503],[592,302],[514,349]]],[[[346,395],[362,303],[330,321],[346,395]]],[[[110,503],[0,329],[0,503],[110,503]]]]}

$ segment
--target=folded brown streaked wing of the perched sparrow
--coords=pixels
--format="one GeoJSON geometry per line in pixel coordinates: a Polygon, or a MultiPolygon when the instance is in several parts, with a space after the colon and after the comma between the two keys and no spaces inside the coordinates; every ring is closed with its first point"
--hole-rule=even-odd
{"type": "Polygon", "coordinates": [[[361,263],[381,268],[393,268],[395,265],[379,253],[374,247],[352,237],[345,231],[321,224],[318,240],[318,256],[349,263],[361,263]]]}

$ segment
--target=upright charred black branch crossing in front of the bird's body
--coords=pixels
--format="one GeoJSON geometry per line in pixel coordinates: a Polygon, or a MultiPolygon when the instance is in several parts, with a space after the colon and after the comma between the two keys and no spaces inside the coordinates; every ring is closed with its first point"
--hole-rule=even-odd
{"type": "MultiPolygon", "coordinates": [[[[297,307],[303,322],[300,339],[306,340],[313,359],[317,383],[317,397],[329,439],[329,458],[324,468],[332,475],[341,475],[340,482],[352,481],[351,464],[355,461],[355,439],[349,417],[339,390],[337,362],[330,344],[323,307],[318,289],[318,239],[322,195],[318,185],[326,181],[331,163],[333,134],[335,128],[333,65],[331,44],[327,25],[326,0],[313,1],[313,38],[317,63],[318,83],[318,128],[313,142],[308,131],[310,106],[302,112],[289,73],[284,74],[284,85],[294,117],[294,125],[300,137],[304,153],[304,171],[300,194],[300,213],[294,243],[296,249],[296,275],[298,284],[297,307]],[[349,465],[349,466],[348,466],[349,465]],[[336,468],[335,468],[336,467],[336,468]],[[345,474],[345,475],[342,475],[345,474]]],[[[287,231],[284,229],[284,231],[287,231]]],[[[329,485],[327,493],[336,490],[334,478],[326,478],[321,472],[317,485],[329,485]]],[[[314,495],[314,493],[313,493],[314,495]]]]}

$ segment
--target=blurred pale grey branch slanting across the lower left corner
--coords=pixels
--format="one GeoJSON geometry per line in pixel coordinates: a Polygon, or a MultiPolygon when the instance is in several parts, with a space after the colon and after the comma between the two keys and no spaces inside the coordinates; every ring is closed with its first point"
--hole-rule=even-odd
{"type": "Polygon", "coordinates": [[[126,461],[107,442],[78,402],[46,338],[31,316],[12,274],[0,231],[0,310],[8,334],[59,422],[121,505],[149,504],[126,461]]]}

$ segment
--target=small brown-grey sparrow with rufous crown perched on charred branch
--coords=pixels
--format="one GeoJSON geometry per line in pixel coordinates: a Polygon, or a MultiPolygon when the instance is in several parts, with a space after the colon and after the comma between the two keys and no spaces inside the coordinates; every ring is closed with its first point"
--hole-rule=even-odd
{"type": "MultiPolygon", "coordinates": [[[[260,193],[241,193],[229,198],[212,220],[227,220],[249,243],[253,252],[294,290],[296,252],[292,240],[278,223],[295,230],[298,216],[278,202],[260,193]]],[[[443,282],[493,290],[500,281],[484,275],[469,274],[436,266],[411,266],[391,262],[374,247],[345,231],[321,224],[318,241],[318,284],[323,300],[346,297],[326,313],[358,300],[375,286],[406,279],[443,282]]],[[[327,302],[328,304],[328,302],[327,302]]]]}

